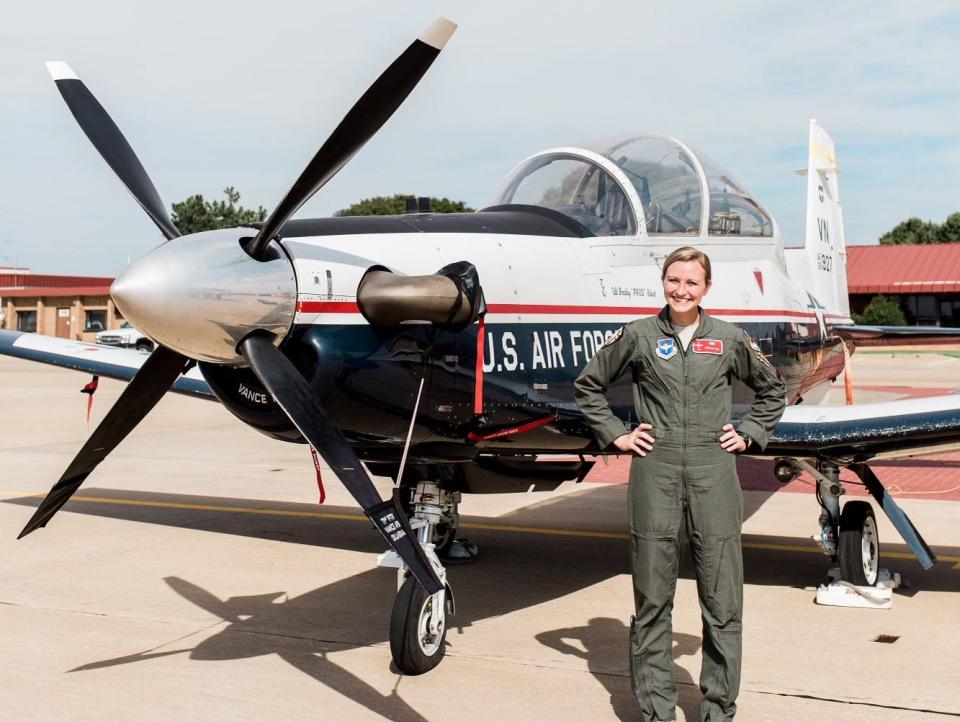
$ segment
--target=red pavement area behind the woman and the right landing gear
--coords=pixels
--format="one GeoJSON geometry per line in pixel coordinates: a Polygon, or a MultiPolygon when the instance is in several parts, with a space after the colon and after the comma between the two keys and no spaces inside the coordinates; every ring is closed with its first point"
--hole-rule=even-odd
{"type": "MultiPolygon", "coordinates": [[[[609,457],[610,463],[598,461],[585,481],[593,484],[625,484],[629,474],[630,457],[609,457]]],[[[870,464],[887,491],[905,499],[942,499],[960,501],[960,453],[918,456],[912,459],[875,461],[870,464]]],[[[781,484],[773,476],[772,459],[744,458],[737,460],[740,486],[747,491],[813,492],[813,479],[801,474],[789,484],[781,484]]],[[[867,496],[853,472],[840,472],[844,489],[852,496],[867,496]]]]}

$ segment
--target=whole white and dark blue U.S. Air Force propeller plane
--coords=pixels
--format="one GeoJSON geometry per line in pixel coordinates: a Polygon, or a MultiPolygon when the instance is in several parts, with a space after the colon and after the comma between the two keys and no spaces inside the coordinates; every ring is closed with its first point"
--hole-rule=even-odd
{"type": "MultiPolygon", "coordinates": [[[[181,236],[134,151],[65,63],[49,63],[81,129],[167,241],[111,295],[156,349],[0,331],[0,353],[129,384],[21,536],[45,526],[168,391],[215,398],[274,438],[309,443],[392,551],[391,651],[405,673],[442,658],[453,594],[444,559],[463,493],[582,480],[597,447],[573,381],[624,323],[664,304],[660,265],[695,245],[714,265],[707,310],[740,325],[786,381],[766,456],[817,480],[820,541],[856,584],[877,580],[872,507],[841,510],[841,467],[864,482],[924,567],[934,556],[867,462],[960,442],[960,396],[819,406],[853,339],[956,330],[858,327],[850,318],[834,144],[809,127],[807,230],[776,222],[731,175],[673,138],[553,148],[520,163],[475,213],[293,219],[400,106],[452,35],[440,19],[363,94],[265,222],[181,236]],[[590,457],[590,458],[588,458],[590,457]],[[364,466],[365,465],[365,466],[364,466]],[[365,468],[366,467],[366,468],[365,468]],[[398,482],[383,500],[369,472],[398,482]]],[[[414,209],[416,210],[416,209],[414,209]]],[[[690,388],[689,393],[699,393],[690,388]]],[[[629,426],[631,384],[610,389],[629,426]]],[[[735,391],[735,416],[751,397],[735,391]]]]}

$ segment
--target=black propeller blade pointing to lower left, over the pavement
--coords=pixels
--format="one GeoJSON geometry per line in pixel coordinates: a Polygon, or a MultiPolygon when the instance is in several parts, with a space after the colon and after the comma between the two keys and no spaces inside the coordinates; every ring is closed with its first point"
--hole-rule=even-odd
{"type": "Polygon", "coordinates": [[[186,356],[163,346],[150,354],[137,375],[127,384],[120,398],[87,439],[80,452],[63,472],[60,481],[40,503],[37,511],[20,532],[18,539],[42,526],[67,503],[90,472],[123,441],[127,434],[157,405],[187,365],[186,356]]]}

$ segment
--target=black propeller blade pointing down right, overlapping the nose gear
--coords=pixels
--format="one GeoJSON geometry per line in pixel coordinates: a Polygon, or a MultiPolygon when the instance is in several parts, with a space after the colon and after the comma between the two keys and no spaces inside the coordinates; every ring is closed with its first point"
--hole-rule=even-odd
{"type": "Polygon", "coordinates": [[[283,352],[273,345],[271,337],[248,336],[240,344],[240,353],[300,433],[313,445],[347,487],[347,491],[357,500],[363,513],[370,517],[387,543],[400,555],[423,588],[429,594],[436,594],[443,589],[396,499],[383,501],[380,498],[366,469],[360,464],[360,459],[350,448],[340,429],[330,420],[317,399],[316,392],[283,352]]]}

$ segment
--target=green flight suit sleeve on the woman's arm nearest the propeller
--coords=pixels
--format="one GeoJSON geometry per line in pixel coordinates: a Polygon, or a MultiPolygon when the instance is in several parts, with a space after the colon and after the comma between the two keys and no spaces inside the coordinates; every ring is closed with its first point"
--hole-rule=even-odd
{"type": "Polygon", "coordinates": [[[574,398],[587,426],[605,449],[614,439],[629,433],[610,410],[607,388],[629,368],[636,352],[636,337],[626,327],[597,351],[573,382],[574,398]]]}

